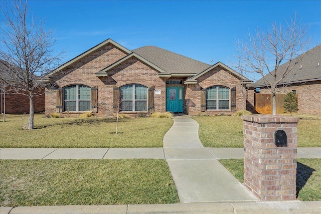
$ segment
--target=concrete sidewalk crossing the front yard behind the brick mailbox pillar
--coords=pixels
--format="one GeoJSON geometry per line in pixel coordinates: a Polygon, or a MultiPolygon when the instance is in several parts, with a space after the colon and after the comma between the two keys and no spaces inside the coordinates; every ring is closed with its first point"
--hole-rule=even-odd
{"type": "MultiPolygon", "coordinates": [[[[193,139],[187,138],[187,147],[181,153],[194,153],[203,159],[242,159],[243,148],[193,148],[193,139]],[[193,149],[188,149],[193,148],[193,149]],[[184,151],[184,152],[183,152],[184,151]],[[205,152],[202,152],[205,151],[205,152]],[[204,156],[202,156],[204,155],[204,156]]],[[[173,145],[179,145],[174,141],[173,145]]],[[[179,158],[174,147],[166,148],[0,148],[0,159],[124,159],[124,158],[179,158]]],[[[189,156],[189,155],[188,155],[189,156]]],[[[182,157],[183,158],[183,157],[182,157]]],[[[297,158],[321,158],[321,148],[297,148],[297,158]]]]}

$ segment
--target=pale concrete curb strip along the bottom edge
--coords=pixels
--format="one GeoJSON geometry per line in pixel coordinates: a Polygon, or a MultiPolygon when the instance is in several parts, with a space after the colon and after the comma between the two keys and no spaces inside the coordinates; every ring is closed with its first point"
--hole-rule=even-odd
{"type": "Polygon", "coordinates": [[[66,205],[66,206],[18,206],[0,207],[1,214],[319,214],[321,201],[270,201],[230,203],[175,203],[175,204],[128,204],[128,205],[66,205]]]}

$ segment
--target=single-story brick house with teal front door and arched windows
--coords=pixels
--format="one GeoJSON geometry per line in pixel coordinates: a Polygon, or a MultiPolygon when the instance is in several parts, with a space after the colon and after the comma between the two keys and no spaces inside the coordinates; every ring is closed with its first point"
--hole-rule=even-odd
{"type": "Polygon", "coordinates": [[[184,112],[189,115],[231,113],[247,104],[254,92],[244,76],[221,62],[208,65],[191,58],[145,46],[130,51],[108,39],[47,75],[55,89],[46,88],[46,112],[81,113],[95,110],[114,116],[184,112]]]}

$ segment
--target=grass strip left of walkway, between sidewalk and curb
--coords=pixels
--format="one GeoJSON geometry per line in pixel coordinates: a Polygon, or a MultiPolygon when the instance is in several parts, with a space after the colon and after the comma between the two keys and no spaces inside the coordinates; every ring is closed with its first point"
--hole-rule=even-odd
{"type": "Polygon", "coordinates": [[[165,160],[1,160],[0,206],[179,202],[165,160]]]}

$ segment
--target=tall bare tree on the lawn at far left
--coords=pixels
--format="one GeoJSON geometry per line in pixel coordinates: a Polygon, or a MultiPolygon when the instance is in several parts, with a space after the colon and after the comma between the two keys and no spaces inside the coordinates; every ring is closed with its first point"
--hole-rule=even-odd
{"type": "Polygon", "coordinates": [[[26,129],[34,128],[34,97],[41,95],[41,78],[59,63],[61,54],[53,56],[55,39],[46,31],[43,21],[30,16],[27,1],[3,4],[5,25],[1,27],[0,58],[8,65],[0,79],[10,84],[18,94],[29,97],[29,121],[26,129]]]}

